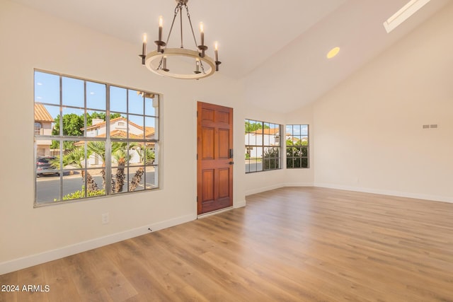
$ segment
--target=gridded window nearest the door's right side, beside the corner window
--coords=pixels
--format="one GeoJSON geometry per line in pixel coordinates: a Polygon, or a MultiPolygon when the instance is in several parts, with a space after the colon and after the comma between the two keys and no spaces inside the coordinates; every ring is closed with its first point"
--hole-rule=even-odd
{"type": "Polygon", "coordinates": [[[280,169],[282,126],[246,120],[246,173],[280,169]]]}

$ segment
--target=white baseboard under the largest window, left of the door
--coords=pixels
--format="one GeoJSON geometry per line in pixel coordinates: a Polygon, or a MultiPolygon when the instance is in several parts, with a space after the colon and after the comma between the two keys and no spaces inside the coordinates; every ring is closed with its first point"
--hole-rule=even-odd
{"type": "Polygon", "coordinates": [[[1,262],[0,263],[0,274],[7,274],[8,272],[15,272],[19,269],[24,269],[26,267],[33,267],[34,265],[40,265],[45,262],[52,260],[57,260],[63,257],[77,254],[79,252],[86,252],[87,250],[93,250],[93,248],[100,248],[104,245],[109,245],[112,243],[117,243],[122,240],[127,240],[137,236],[144,235],[149,233],[149,228],[152,231],[159,231],[163,228],[169,228],[171,226],[176,226],[181,223],[186,223],[188,221],[193,221],[196,219],[194,215],[180,216],[176,219],[170,219],[167,221],[161,221],[158,223],[151,223],[139,228],[133,228],[129,231],[124,231],[120,233],[115,233],[109,236],[104,236],[101,238],[96,238],[92,240],[87,240],[81,243],[76,243],[74,245],[68,245],[63,248],[58,248],[55,250],[48,250],[46,252],[41,252],[39,254],[30,255],[26,257],[21,257],[18,259],[1,262]]]}

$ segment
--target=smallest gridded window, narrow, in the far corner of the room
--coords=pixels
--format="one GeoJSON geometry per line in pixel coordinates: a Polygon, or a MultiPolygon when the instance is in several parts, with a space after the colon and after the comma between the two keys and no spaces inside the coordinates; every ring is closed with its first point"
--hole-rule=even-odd
{"type": "Polygon", "coordinates": [[[286,125],[286,168],[309,168],[309,125],[286,125]]]}

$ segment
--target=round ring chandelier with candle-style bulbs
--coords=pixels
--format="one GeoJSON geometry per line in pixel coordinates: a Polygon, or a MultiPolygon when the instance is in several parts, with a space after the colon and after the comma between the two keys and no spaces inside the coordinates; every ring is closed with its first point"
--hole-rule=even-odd
{"type": "Polygon", "coordinates": [[[214,71],[219,71],[219,64],[222,62],[219,62],[217,54],[218,44],[217,42],[214,44],[215,59],[205,54],[207,46],[205,45],[203,23],[200,23],[201,43],[200,45],[197,44],[187,3],[188,0],[176,0],[175,14],[166,42],[162,40],[163,21],[162,17],[159,17],[159,39],[154,41],[157,49],[149,52],[149,54],[147,54],[147,34],[143,35],[142,54],[139,54],[139,57],[142,58],[142,65],[147,66],[155,74],[175,79],[202,79],[206,76],[211,76],[214,71]],[[183,8],[187,12],[188,23],[195,42],[195,50],[189,50],[183,46],[183,8]],[[173,25],[175,25],[178,15],[180,19],[180,47],[169,48],[167,46],[168,40],[170,40],[173,25]]]}

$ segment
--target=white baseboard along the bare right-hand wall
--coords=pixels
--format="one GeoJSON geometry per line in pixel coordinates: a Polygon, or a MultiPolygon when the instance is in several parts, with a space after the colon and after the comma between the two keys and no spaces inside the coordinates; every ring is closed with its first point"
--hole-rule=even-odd
{"type": "Polygon", "coordinates": [[[326,184],[326,183],[316,183],[314,186],[315,187],[327,187],[329,189],[337,189],[337,190],[347,190],[347,191],[364,192],[364,193],[372,193],[372,194],[390,195],[390,196],[396,196],[396,197],[407,197],[407,198],[414,198],[414,199],[432,200],[434,202],[453,203],[453,197],[445,197],[445,196],[430,195],[430,194],[417,194],[417,193],[410,193],[410,192],[379,190],[379,189],[371,189],[371,188],[366,188],[366,187],[350,187],[350,186],[345,186],[345,185],[332,185],[332,184],[326,184]]]}

